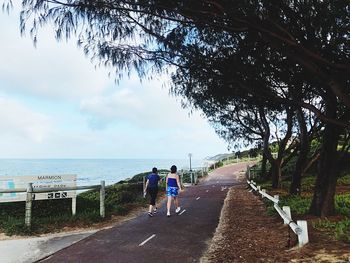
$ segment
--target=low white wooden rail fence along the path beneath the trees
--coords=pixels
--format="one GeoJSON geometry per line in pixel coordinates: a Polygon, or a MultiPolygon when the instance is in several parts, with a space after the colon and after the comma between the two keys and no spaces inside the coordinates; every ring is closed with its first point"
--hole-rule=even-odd
{"type": "Polygon", "coordinates": [[[278,195],[271,196],[271,195],[267,194],[266,190],[260,189],[260,186],[257,186],[253,180],[247,180],[247,183],[255,192],[261,194],[262,198],[265,197],[274,203],[273,207],[278,212],[278,214],[282,217],[284,224],[289,225],[289,227],[293,230],[293,232],[298,236],[299,247],[302,247],[305,244],[309,243],[309,236],[308,236],[308,231],[307,231],[307,221],[298,220],[297,223],[295,223],[292,220],[290,207],[283,206],[283,208],[281,209],[278,206],[278,203],[279,203],[278,195]]]}

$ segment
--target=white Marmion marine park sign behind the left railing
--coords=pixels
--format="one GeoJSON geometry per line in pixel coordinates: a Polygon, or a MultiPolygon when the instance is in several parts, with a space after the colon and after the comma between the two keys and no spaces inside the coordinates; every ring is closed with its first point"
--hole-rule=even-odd
{"type": "MultiPolygon", "coordinates": [[[[0,176],[1,189],[27,188],[28,184],[33,184],[33,189],[76,187],[77,176],[75,174],[59,175],[33,175],[33,176],[0,176]]],[[[34,200],[75,198],[76,191],[59,191],[51,193],[33,194],[34,200]]],[[[26,200],[26,193],[0,193],[0,203],[19,202],[26,200]]]]}

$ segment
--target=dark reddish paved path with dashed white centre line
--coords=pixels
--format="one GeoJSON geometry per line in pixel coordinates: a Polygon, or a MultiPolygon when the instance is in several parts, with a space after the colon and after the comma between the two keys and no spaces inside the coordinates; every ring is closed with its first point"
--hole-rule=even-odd
{"type": "Polygon", "coordinates": [[[228,188],[246,164],[219,168],[180,194],[182,213],[166,217],[165,205],[150,218],[141,215],[102,230],[40,262],[199,262],[219,222],[228,188]]]}

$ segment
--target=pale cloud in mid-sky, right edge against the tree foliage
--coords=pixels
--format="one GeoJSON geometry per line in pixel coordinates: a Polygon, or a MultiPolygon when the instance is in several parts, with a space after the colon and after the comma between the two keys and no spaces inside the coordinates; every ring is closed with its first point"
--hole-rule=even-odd
{"type": "Polygon", "coordinates": [[[183,127],[189,123],[203,122],[198,112],[189,114],[180,102],[162,88],[164,79],[122,82],[111,94],[82,100],[80,109],[93,128],[106,128],[117,123],[129,123],[134,127],[161,129],[183,127]]]}

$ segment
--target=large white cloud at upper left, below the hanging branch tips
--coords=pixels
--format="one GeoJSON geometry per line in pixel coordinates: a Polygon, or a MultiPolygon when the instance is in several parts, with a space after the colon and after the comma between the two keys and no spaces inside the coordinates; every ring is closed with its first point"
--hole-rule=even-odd
{"type": "Polygon", "coordinates": [[[0,42],[3,91],[54,100],[81,99],[113,84],[108,70],[95,69],[74,39],[58,43],[52,30],[44,29],[35,48],[30,37],[19,36],[18,17],[15,11],[10,17],[0,15],[1,39],[6,40],[0,42]]]}

